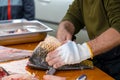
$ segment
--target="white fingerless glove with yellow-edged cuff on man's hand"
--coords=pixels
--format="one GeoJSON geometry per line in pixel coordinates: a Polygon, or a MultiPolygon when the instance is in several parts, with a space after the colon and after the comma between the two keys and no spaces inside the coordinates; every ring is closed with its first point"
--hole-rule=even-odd
{"type": "Polygon", "coordinates": [[[80,45],[74,41],[68,41],[56,50],[58,50],[58,55],[64,64],[80,63],[93,56],[87,43],[80,45]]]}

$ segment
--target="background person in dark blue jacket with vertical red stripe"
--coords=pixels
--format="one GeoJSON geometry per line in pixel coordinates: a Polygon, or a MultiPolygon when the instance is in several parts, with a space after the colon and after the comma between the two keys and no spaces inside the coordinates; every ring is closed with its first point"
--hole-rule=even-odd
{"type": "Polygon", "coordinates": [[[34,16],[34,0],[0,0],[0,20],[33,20],[34,16]]]}

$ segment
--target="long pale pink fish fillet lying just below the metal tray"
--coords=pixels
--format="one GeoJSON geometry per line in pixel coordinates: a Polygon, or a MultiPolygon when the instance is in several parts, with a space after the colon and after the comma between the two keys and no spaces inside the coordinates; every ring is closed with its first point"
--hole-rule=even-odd
{"type": "Polygon", "coordinates": [[[12,60],[29,58],[32,51],[0,46],[0,63],[12,60]]]}

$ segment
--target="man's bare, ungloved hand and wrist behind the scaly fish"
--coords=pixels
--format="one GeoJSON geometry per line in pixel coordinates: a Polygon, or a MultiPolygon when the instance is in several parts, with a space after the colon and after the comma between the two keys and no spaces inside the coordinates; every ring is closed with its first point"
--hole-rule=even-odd
{"type": "Polygon", "coordinates": [[[72,39],[72,35],[74,34],[74,26],[69,21],[63,21],[59,24],[59,28],[57,31],[57,39],[65,43],[68,40],[72,39]]]}

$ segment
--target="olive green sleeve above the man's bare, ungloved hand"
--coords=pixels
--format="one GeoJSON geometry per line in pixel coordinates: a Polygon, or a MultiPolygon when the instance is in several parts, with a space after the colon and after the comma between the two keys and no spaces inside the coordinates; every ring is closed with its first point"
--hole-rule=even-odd
{"type": "Polygon", "coordinates": [[[62,21],[68,20],[73,23],[75,26],[74,34],[78,33],[79,30],[84,27],[80,6],[80,0],[74,0],[74,2],[69,6],[66,15],[62,19],[62,21]]]}

